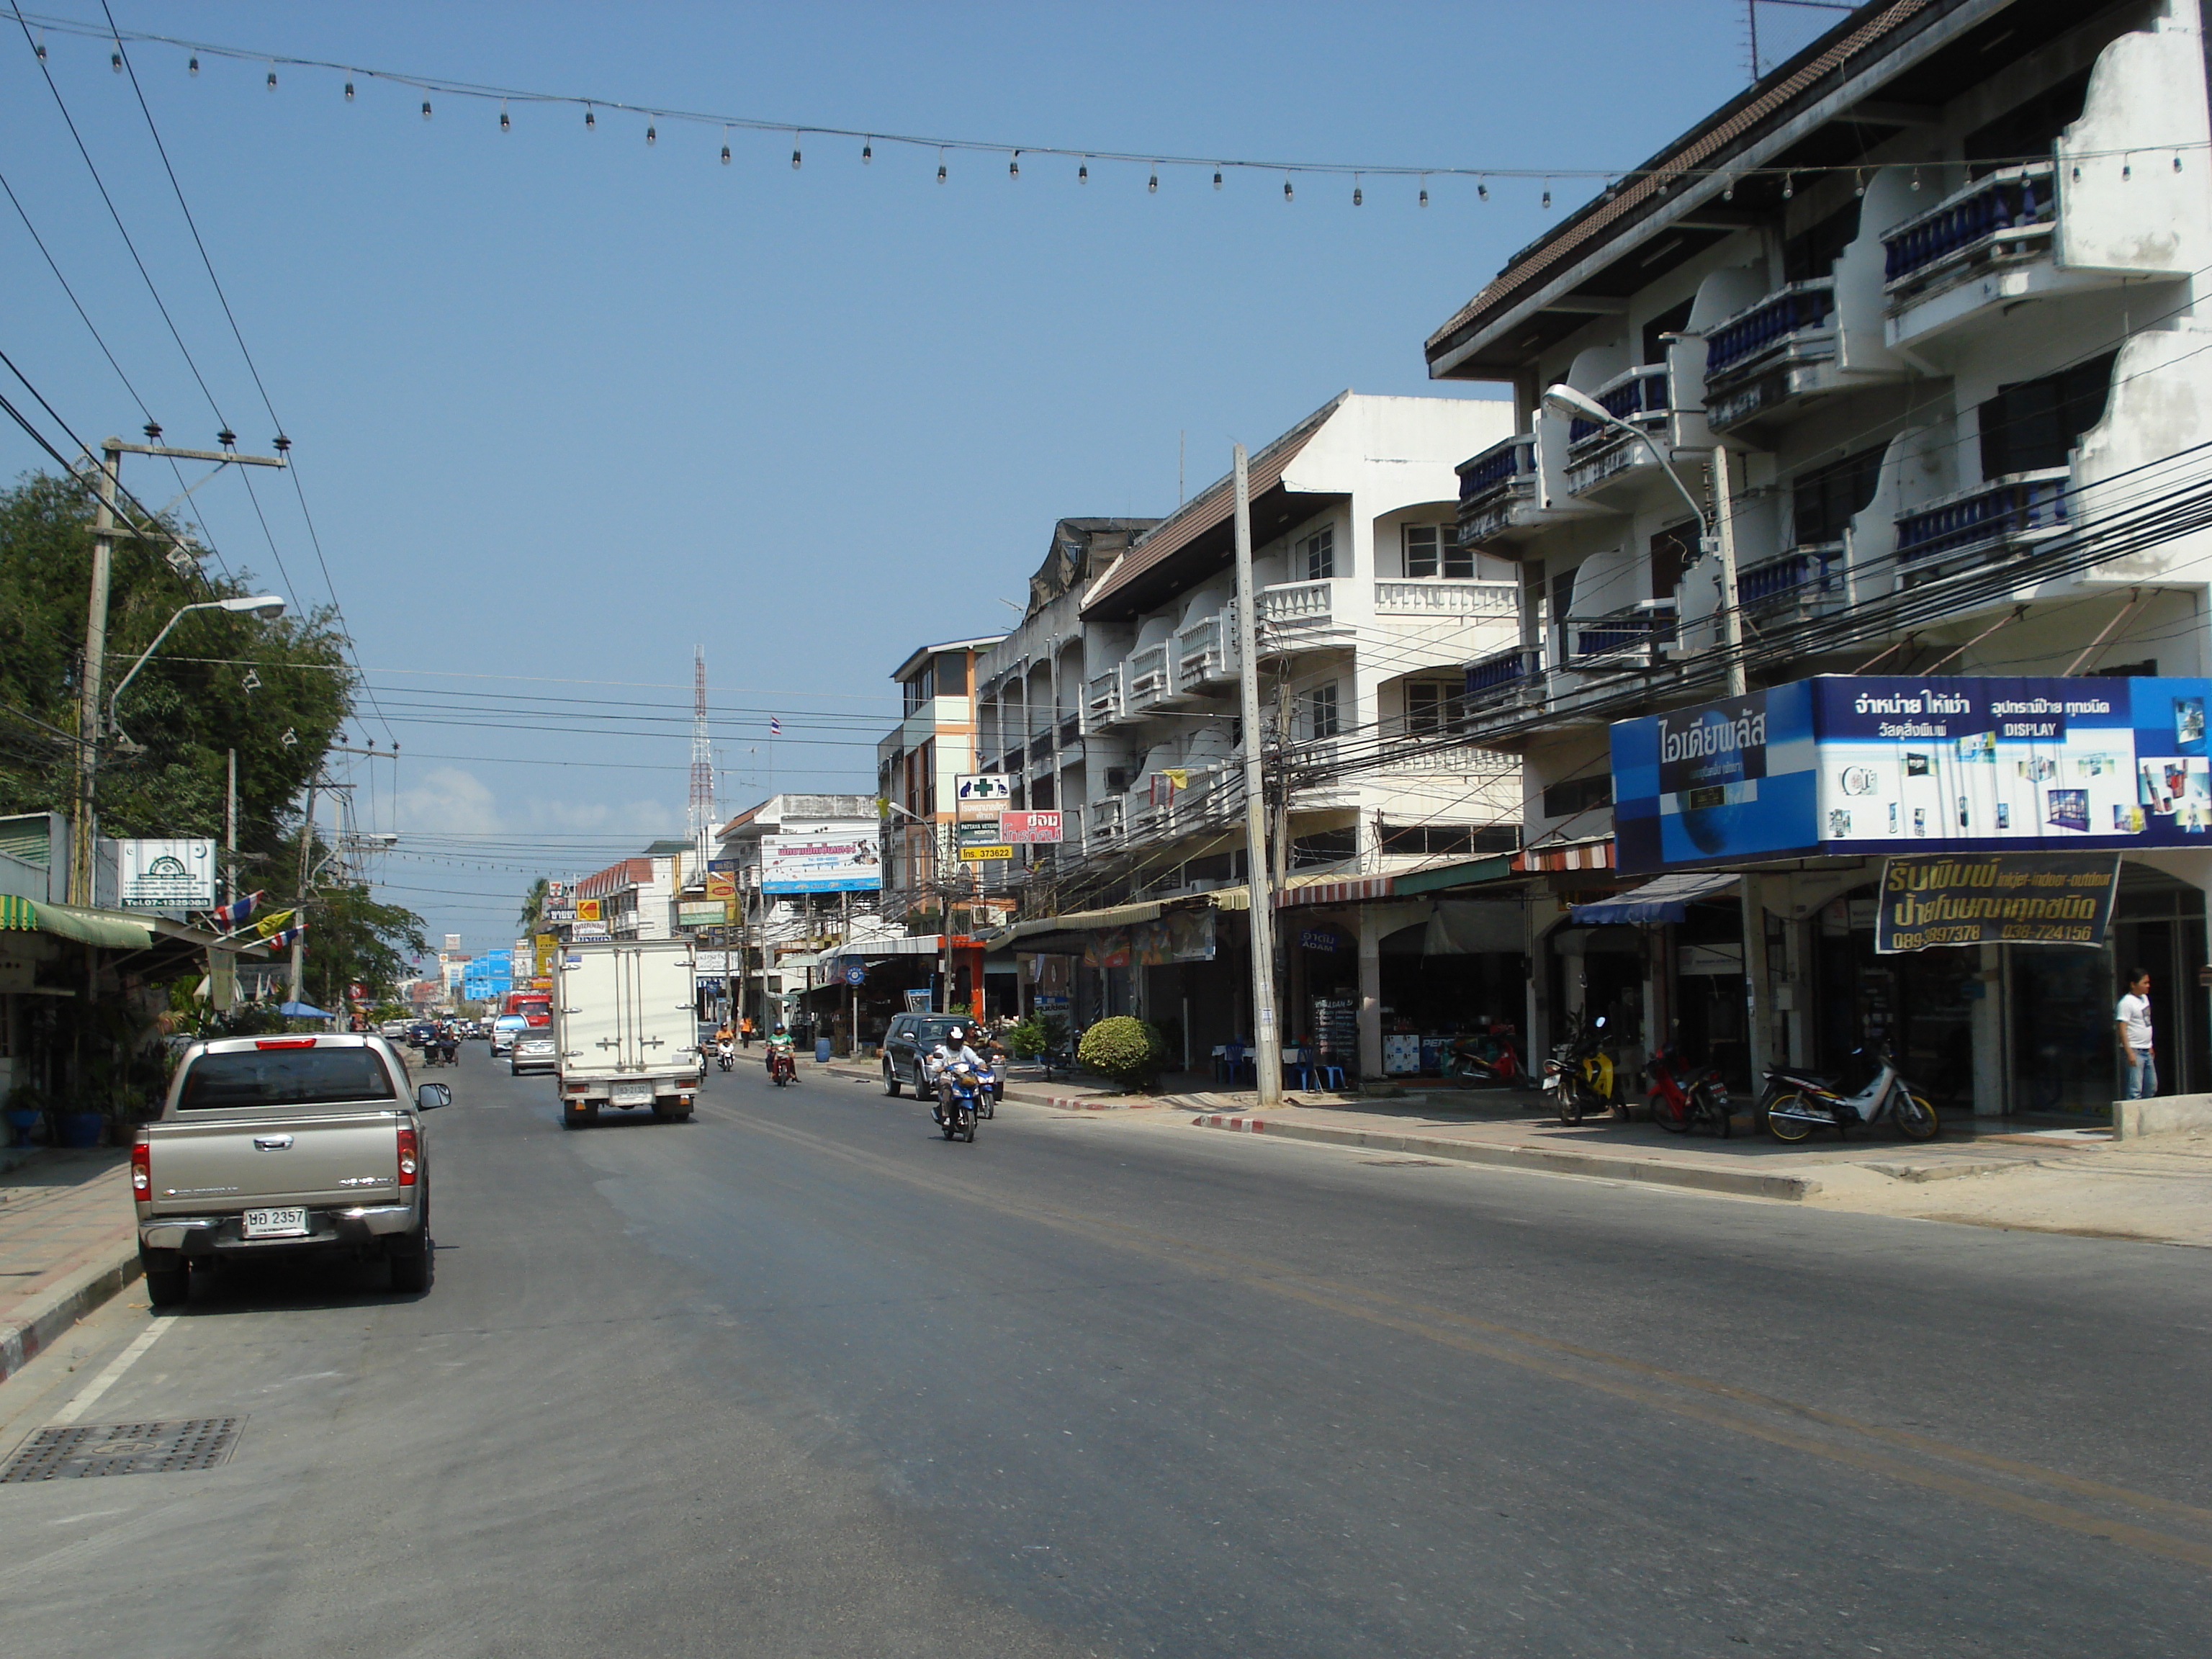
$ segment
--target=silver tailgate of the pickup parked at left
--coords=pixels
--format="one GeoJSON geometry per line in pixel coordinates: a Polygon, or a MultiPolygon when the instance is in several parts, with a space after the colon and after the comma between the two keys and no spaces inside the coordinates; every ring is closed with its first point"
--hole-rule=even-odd
{"type": "Polygon", "coordinates": [[[392,1203],[400,1192],[398,1128],[392,1110],[153,1124],[146,1133],[153,1212],[392,1203]]]}

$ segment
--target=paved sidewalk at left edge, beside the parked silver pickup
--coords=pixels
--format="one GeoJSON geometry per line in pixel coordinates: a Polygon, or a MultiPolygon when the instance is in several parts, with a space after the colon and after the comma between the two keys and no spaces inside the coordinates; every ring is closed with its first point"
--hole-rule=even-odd
{"type": "Polygon", "coordinates": [[[139,1276],[128,1166],[108,1146],[0,1172],[0,1380],[139,1276]]]}

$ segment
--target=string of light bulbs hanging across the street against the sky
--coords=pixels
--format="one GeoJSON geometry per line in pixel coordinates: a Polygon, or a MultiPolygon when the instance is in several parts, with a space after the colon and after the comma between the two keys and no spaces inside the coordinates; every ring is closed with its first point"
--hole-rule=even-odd
{"type": "MultiPolygon", "coordinates": [[[[524,86],[495,86],[487,82],[453,80],[447,75],[425,75],[416,71],[400,69],[372,69],[367,64],[347,64],[330,58],[296,58],[290,53],[259,51],[250,46],[230,46],[208,40],[190,40],[184,35],[164,35],[144,29],[111,29],[102,24],[91,24],[80,18],[60,18],[38,11],[0,9],[0,15],[13,18],[35,31],[69,35],[80,40],[97,40],[108,44],[111,64],[115,73],[124,73],[124,42],[144,42],[155,46],[170,46],[186,53],[186,73],[199,75],[201,58],[243,62],[263,66],[263,84],[268,91],[279,88],[279,69],[299,71],[323,71],[343,77],[343,97],[354,102],[356,86],[361,82],[385,82],[392,86],[405,86],[420,93],[420,115],[431,119],[436,115],[436,100],[453,97],[469,100],[495,108],[498,128],[502,133],[513,131],[513,117],[509,113],[511,104],[526,104],[538,108],[568,108],[580,111],[586,131],[597,131],[599,115],[622,115],[628,119],[641,119],[646,124],[644,139],[648,146],[659,144],[661,124],[697,126],[697,128],[719,128],[721,133],[721,164],[730,166],[734,155],[730,148],[732,133],[776,133],[790,137],[792,144],[792,168],[799,170],[805,164],[805,146],[812,139],[858,139],[858,159],[863,166],[876,159],[876,146],[896,146],[905,150],[936,153],[936,177],[938,184],[949,181],[951,164],[949,155],[975,155],[991,157],[993,161],[1004,161],[1006,177],[1022,177],[1022,161],[1026,159],[1031,168],[1040,157],[1051,157],[1057,161],[1075,161],[1075,181],[1091,181],[1091,164],[1117,164],[1146,168],[1146,192],[1159,192],[1159,175],[1164,168],[1170,170],[1194,170],[1210,173],[1212,188],[1221,190],[1230,173],[1241,175],[1263,175],[1281,177],[1283,201],[1296,201],[1296,179],[1298,177],[1327,177],[1327,179],[1349,179],[1352,181],[1352,206],[1365,206],[1367,179],[1411,179],[1418,181],[1418,206],[1429,206],[1429,181],[1431,179],[1460,179],[1475,184],[1475,199],[1491,199],[1491,181],[1524,181],[1542,184],[1542,208],[1553,206],[1553,184],[1564,181],[1595,181],[1606,186],[1610,192],[1624,190],[1628,186],[1657,181],[1661,188],[1677,184],[1694,184],[1703,179],[1723,179],[1730,195],[1734,186],[1770,179],[1778,181],[1785,192],[1794,190],[1798,181],[1816,179],[1823,175],[1856,175],[1865,179],[1871,170],[1867,161],[1858,164],[1792,164],[1792,166],[1743,166],[1743,164],[1714,164],[1714,166],[1683,166],[1679,161],[1668,161],[1655,168],[1584,168],[1584,166],[1464,166],[1464,164],[1407,164],[1407,161],[1263,161],[1252,157],[1228,157],[1228,155],[1172,155],[1152,150],[1097,150],[1097,148],[1075,148],[1068,144],[1011,144],[1004,139],[980,139],[980,137],[945,137],[927,133],[885,133],[878,128],[863,126],[830,126],[821,122],[787,122],[768,119],[759,115],[728,115],[714,111],[692,111],[675,108],[664,104],[639,104],[622,97],[597,97],[584,93],[549,93],[524,86]]],[[[40,55],[44,55],[44,40],[40,40],[40,55]]],[[[2084,150],[2077,159],[2090,159],[2097,155],[2139,155],[2157,150],[2159,155],[2174,153],[2174,164],[2179,166],[2179,155],[2183,150],[2205,150],[2212,148],[2212,139],[2190,139],[2179,144],[2159,146],[2137,146],[2132,150],[2084,150]]],[[[2033,161],[2037,157],[2017,157],[2020,161],[2033,161]]],[[[1942,166],[1942,157],[1927,157],[1924,166],[1942,166]]]]}

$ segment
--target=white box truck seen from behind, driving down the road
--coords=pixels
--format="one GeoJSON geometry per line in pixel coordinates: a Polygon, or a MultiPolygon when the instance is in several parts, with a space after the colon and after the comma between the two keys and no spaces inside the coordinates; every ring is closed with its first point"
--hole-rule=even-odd
{"type": "Polygon", "coordinates": [[[692,947],[681,938],[564,945],[553,982],[562,1128],[602,1106],[686,1119],[699,1093],[692,947]]]}

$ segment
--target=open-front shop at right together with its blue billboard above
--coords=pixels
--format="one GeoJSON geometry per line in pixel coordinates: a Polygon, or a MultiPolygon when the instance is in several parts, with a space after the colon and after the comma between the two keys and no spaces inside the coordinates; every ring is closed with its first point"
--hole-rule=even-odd
{"type": "Polygon", "coordinates": [[[1639,931],[1646,1020],[1745,1082],[1871,1042],[1940,1108],[2088,1117],[2141,967],[2163,1091],[2212,1088],[2208,690],[1818,677],[1621,721],[1617,869],[1646,883],[1575,907],[1582,960],[1639,931]]]}

